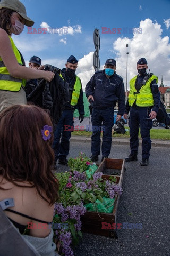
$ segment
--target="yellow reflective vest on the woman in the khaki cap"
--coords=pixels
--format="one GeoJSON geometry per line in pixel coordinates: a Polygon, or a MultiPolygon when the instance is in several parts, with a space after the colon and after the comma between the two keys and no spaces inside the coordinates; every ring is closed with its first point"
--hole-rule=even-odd
{"type": "MultiPolygon", "coordinates": [[[[18,49],[16,48],[11,36],[9,36],[9,38],[16,60],[18,61],[19,65],[23,65],[18,49]]],[[[25,86],[25,79],[11,76],[5,67],[2,58],[0,57],[0,90],[18,92],[20,91],[22,85],[25,86]]]]}

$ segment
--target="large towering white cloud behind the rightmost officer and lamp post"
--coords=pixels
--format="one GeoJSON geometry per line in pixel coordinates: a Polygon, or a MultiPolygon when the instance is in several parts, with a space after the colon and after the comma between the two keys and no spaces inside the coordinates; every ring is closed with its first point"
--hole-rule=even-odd
{"type": "MultiPolygon", "coordinates": [[[[128,88],[129,81],[137,75],[136,63],[145,57],[148,61],[150,72],[159,77],[164,77],[164,84],[168,86],[170,77],[170,44],[169,37],[162,37],[161,25],[153,23],[150,19],[140,22],[142,34],[134,33],[133,38],[119,37],[113,43],[113,51],[116,51],[117,74],[122,76],[126,88],[126,44],[128,47],[128,88]]],[[[149,70],[148,68],[148,70],[149,70]]]]}

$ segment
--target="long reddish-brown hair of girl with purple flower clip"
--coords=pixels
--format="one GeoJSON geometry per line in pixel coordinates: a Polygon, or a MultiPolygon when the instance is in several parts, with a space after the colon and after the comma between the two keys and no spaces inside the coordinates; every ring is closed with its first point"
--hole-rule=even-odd
{"type": "Polygon", "coordinates": [[[13,105],[0,113],[0,175],[18,187],[27,187],[18,182],[28,181],[53,204],[59,185],[51,171],[53,134],[45,141],[44,125],[53,126],[46,111],[34,105],[13,105]]]}

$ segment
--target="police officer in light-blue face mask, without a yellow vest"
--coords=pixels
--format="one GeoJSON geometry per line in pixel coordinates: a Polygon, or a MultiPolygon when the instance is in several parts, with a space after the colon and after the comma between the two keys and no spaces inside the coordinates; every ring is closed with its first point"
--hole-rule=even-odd
{"type": "Polygon", "coordinates": [[[118,101],[116,121],[121,119],[125,110],[125,92],[122,77],[116,74],[116,61],[106,60],[104,70],[97,71],[86,85],[86,97],[93,101],[91,161],[98,161],[100,155],[100,134],[103,126],[102,158],[111,153],[112,126],[114,124],[114,108],[118,101]]]}

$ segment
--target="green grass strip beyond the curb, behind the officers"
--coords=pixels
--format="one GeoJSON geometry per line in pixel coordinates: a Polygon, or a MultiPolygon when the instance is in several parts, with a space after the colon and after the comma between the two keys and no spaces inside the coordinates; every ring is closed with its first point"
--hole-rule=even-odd
{"type": "MultiPolygon", "coordinates": [[[[130,138],[129,127],[125,126],[125,129],[128,130],[128,131],[126,131],[125,134],[114,133],[113,137],[130,138]]],[[[74,136],[91,137],[92,132],[75,131],[75,132],[72,132],[72,135],[74,135],[74,136]]],[[[170,130],[169,129],[165,129],[165,128],[163,128],[163,129],[151,129],[150,130],[150,137],[151,137],[151,139],[170,140],[170,130]]],[[[141,138],[140,131],[139,131],[139,138],[141,138]]]]}

